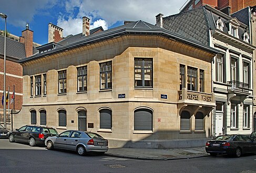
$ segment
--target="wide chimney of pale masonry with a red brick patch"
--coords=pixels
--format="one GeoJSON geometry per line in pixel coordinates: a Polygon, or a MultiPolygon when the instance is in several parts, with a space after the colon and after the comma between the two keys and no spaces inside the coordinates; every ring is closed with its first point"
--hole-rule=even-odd
{"type": "Polygon", "coordinates": [[[59,42],[63,40],[63,29],[49,23],[48,24],[48,42],[59,42]]]}

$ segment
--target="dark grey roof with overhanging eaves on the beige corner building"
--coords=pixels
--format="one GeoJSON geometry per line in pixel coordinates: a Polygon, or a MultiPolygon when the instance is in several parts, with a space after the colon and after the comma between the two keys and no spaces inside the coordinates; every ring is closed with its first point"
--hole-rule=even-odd
{"type": "Polygon", "coordinates": [[[171,31],[169,31],[167,29],[160,28],[158,26],[149,24],[145,21],[138,20],[138,21],[134,21],[132,23],[126,24],[126,25],[118,26],[116,28],[104,30],[104,31],[101,31],[99,33],[92,34],[89,36],[81,36],[81,34],[78,34],[75,36],[69,36],[64,40],[59,41],[58,44],[60,46],[58,46],[58,47],[56,46],[56,49],[49,50],[47,52],[38,53],[38,54],[28,57],[26,59],[19,60],[18,62],[23,63],[26,61],[40,58],[40,57],[53,55],[55,53],[62,52],[65,50],[77,48],[77,47],[88,45],[88,44],[93,44],[94,42],[111,39],[111,38],[119,37],[122,35],[128,35],[128,34],[161,35],[161,36],[165,36],[165,37],[183,42],[187,45],[191,45],[193,47],[203,49],[203,50],[211,52],[211,53],[219,52],[218,50],[211,48],[209,46],[203,45],[200,42],[195,42],[193,40],[190,40],[185,37],[179,36],[175,33],[172,33],[171,31]],[[67,41],[67,43],[66,44],[63,43],[64,41],[67,41]]]}

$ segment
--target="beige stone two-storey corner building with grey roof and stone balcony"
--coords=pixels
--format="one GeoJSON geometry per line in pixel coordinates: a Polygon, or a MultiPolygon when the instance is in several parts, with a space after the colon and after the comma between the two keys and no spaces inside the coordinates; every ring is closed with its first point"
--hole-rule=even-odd
{"type": "Polygon", "coordinates": [[[211,136],[217,49],[139,20],[38,50],[19,60],[15,127],[98,132],[118,147],[203,146],[211,136]]]}

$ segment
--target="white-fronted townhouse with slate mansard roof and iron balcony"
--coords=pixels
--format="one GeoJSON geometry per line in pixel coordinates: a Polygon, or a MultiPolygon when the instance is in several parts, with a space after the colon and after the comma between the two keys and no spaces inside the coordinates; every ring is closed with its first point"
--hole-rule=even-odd
{"type": "MultiPolygon", "coordinates": [[[[237,18],[208,5],[158,19],[178,35],[220,50],[212,59],[216,100],[212,136],[252,132],[253,79],[250,30],[237,18]]],[[[160,24],[157,24],[160,25],[160,24]]]]}

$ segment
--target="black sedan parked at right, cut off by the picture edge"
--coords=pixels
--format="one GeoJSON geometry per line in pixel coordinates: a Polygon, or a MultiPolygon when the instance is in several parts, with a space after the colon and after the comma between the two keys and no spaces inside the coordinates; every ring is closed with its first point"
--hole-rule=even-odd
{"type": "Polygon", "coordinates": [[[228,154],[240,157],[245,153],[256,153],[256,142],[246,135],[221,135],[206,143],[206,152],[212,156],[228,154]]]}

